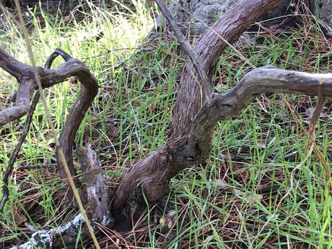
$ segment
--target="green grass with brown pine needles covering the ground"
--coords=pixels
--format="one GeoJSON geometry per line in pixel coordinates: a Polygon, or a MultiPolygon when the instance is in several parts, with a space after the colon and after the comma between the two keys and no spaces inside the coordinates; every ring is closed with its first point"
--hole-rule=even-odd
{"type": "MultiPolygon", "coordinates": [[[[98,98],[82,122],[75,145],[91,145],[114,183],[125,167],[165,142],[185,56],[166,33],[160,33],[151,44],[144,42],[154,24],[154,9],[140,0],[130,6],[116,3],[106,10],[86,3],[86,12],[79,13],[84,18],[69,23],[61,13],[51,17],[32,11],[26,17],[37,64],[43,65],[46,57],[61,47],[84,61],[98,78],[98,98]],[[96,39],[101,32],[101,39],[96,39]],[[115,69],[119,59],[125,63],[115,69]]],[[[259,39],[260,44],[237,46],[255,66],[329,72],[331,40],[322,39],[315,24],[288,35],[259,39]]],[[[21,31],[10,21],[0,34],[0,46],[30,64],[21,31]]],[[[60,63],[57,59],[55,65],[60,63]]],[[[226,50],[213,77],[216,91],[227,91],[250,69],[237,53],[226,50]]],[[[3,109],[10,105],[8,95],[17,83],[1,71],[0,86],[3,109]]],[[[57,131],[78,89],[79,85],[68,80],[46,90],[57,131]]],[[[160,205],[149,207],[135,233],[123,232],[120,237],[108,231],[99,238],[101,245],[119,239],[122,248],[332,248],[331,183],[326,182],[323,162],[315,151],[306,158],[304,129],[308,129],[309,118],[305,111],[314,106],[315,98],[268,94],[241,115],[219,123],[207,164],[178,174],[169,196],[160,205]],[[301,162],[290,189],[292,171],[301,162]],[[172,218],[172,229],[160,228],[155,214],[167,217],[172,210],[175,214],[167,218],[172,218]]],[[[317,125],[316,142],[331,172],[330,106],[328,102],[326,115],[317,125]]],[[[0,129],[1,172],[24,120],[0,129]]],[[[17,165],[54,163],[54,144],[40,103],[17,165]]],[[[6,230],[1,233],[1,246],[28,237],[24,222],[48,229],[75,215],[54,169],[15,170],[10,181],[10,200],[0,221],[6,230]]],[[[80,239],[77,245],[82,246],[80,239]]]]}

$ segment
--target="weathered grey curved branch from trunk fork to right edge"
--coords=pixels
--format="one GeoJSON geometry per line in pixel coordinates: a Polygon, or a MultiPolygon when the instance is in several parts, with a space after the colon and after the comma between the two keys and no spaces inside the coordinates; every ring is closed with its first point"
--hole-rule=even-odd
{"type": "Polygon", "coordinates": [[[190,157],[205,160],[209,155],[211,133],[217,122],[231,118],[264,93],[302,93],[332,97],[332,74],[287,71],[274,66],[255,68],[247,73],[231,91],[212,95],[194,118],[190,130],[190,157]]]}

